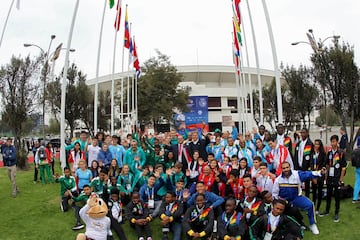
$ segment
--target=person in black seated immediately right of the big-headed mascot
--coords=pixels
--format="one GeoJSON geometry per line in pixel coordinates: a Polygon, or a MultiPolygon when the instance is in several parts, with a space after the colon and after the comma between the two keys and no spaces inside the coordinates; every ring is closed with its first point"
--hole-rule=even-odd
{"type": "MultiPolygon", "coordinates": [[[[116,180],[116,178],[115,178],[116,180]]],[[[116,182],[116,181],[115,181],[116,182]]],[[[124,230],[121,224],[124,223],[124,209],[123,204],[119,198],[119,189],[112,188],[110,192],[110,198],[107,202],[109,208],[109,217],[111,220],[111,228],[115,230],[116,234],[121,240],[126,240],[124,230]]]]}

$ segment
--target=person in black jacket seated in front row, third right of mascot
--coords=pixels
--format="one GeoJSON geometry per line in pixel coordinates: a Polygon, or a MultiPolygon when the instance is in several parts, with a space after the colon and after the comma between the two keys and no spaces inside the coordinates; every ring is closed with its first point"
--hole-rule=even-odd
{"type": "Polygon", "coordinates": [[[160,219],[162,225],[163,238],[168,240],[168,233],[173,233],[173,240],[181,239],[181,215],[183,214],[183,204],[176,200],[176,194],[169,191],[165,195],[165,201],[160,207],[160,219]]]}

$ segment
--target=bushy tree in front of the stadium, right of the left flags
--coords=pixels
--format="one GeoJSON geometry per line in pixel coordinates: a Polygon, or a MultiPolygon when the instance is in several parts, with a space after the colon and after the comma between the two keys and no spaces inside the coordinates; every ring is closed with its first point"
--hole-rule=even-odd
{"type": "Polygon", "coordinates": [[[143,124],[154,126],[172,119],[172,109],[186,111],[188,90],[178,87],[183,76],[171,64],[168,56],[157,51],[157,56],[144,63],[144,75],[138,79],[138,114],[143,124]]]}

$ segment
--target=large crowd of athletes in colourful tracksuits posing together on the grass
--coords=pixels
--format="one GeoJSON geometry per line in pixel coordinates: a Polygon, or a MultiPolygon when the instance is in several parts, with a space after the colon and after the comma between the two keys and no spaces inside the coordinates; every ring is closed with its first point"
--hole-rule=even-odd
{"type": "Polygon", "coordinates": [[[59,183],[60,210],[73,209],[72,229],[86,227],[88,239],[129,239],[127,223],[138,240],[155,239],[156,224],[163,240],[303,239],[304,231],[320,233],[317,217],[340,221],[348,163],[341,137],[329,140],[326,149],[302,128],[293,142],[282,124],[245,134],[235,125],[212,133],[133,129],[126,138],[81,132],[66,146],[62,175],[53,172],[51,146],[35,142],[34,183],[39,171],[42,184],[59,183]],[[110,219],[96,231],[81,212],[92,195],[106,203],[110,219]]]}

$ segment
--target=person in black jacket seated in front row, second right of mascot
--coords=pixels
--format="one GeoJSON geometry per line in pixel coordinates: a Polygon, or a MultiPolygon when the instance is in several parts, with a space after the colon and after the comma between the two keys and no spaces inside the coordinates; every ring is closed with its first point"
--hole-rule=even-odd
{"type": "Polygon", "coordinates": [[[132,193],[131,202],[126,206],[126,211],[130,226],[135,229],[138,240],[145,240],[145,237],[146,240],[152,240],[149,209],[146,203],[140,200],[138,192],[132,193]]]}

